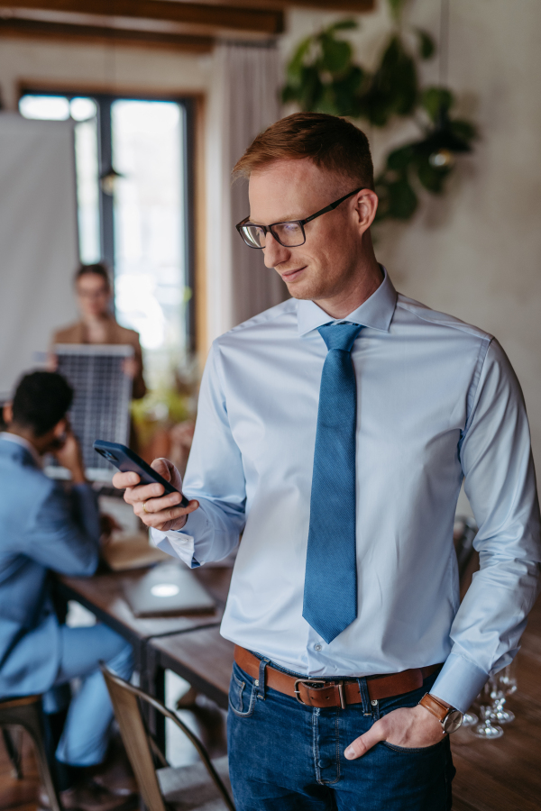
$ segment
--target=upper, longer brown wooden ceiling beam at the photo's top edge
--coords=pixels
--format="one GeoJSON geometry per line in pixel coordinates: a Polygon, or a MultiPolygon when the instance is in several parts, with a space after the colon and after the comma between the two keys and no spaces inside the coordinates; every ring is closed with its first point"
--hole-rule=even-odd
{"type": "MultiPolygon", "coordinates": [[[[101,17],[133,17],[168,23],[189,23],[213,30],[278,34],[284,30],[284,15],[277,8],[205,5],[174,0],[7,0],[10,9],[95,14],[101,17]]],[[[1,4],[0,4],[1,5],[1,4]]]]}

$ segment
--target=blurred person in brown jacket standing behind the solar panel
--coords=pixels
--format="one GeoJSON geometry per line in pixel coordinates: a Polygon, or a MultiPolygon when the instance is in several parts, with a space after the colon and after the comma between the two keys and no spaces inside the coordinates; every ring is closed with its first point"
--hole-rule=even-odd
{"type": "Polygon", "coordinates": [[[146,394],[146,386],[142,376],[139,335],[135,330],[128,330],[115,321],[111,312],[113,290],[105,265],[101,262],[81,265],[75,274],[75,292],[80,320],[53,333],[52,346],[57,343],[132,346],[133,358],[124,361],[124,372],[133,379],[133,399],[140,399],[146,394]]]}

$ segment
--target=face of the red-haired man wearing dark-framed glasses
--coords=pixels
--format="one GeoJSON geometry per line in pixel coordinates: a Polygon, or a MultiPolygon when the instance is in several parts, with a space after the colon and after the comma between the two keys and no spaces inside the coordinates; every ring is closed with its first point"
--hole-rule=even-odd
{"type": "MultiPolygon", "coordinates": [[[[277,160],[252,172],[250,222],[271,225],[302,220],[355,188],[352,179],[318,169],[311,160],[277,160]]],[[[362,205],[361,205],[362,208],[362,205]]],[[[298,248],[284,248],[268,233],[263,249],[265,265],[274,268],[295,298],[326,300],[351,287],[362,253],[358,196],[335,211],[305,225],[307,241],[298,248]]]]}

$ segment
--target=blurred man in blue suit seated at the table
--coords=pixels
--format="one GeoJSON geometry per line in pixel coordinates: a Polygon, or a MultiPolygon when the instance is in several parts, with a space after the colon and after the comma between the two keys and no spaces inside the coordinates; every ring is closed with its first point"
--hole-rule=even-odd
{"type": "Polygon", "coordinates": [[[69,704],[56,749],[66,808],[112,811],[126,796],[99,786],[90,774],[105,758],[113,709],[99,661],[124,679],[132,649],[105,625],[60,624],[50,593],[50,570],[89,576],[99,552],[96,495],[87,483],[78,442],[66,414],[73,391],[55,372],[25,375],[5,408],[0,433],[0,696],[43,693],[58,713],[61,686],[82,679],[69,704]],[[41,470],[52,452],[72,477],[68,495],[41,470]]]}

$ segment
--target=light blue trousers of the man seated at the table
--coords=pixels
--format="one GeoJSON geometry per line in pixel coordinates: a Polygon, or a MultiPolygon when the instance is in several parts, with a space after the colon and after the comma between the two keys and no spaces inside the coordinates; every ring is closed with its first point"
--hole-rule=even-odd
{"type": "Polygon", "coordinates": [[[46,713],[64,709],[69,691],[63,686],[71,679],[82,679],[69,703],[56,757],[70,766],[96,766],[105,758],[113,720],[113,707],[99,662],[105,661],[122,679],[129,680],[133,671],[132,646],[101,624],[88,628],[62,625],[60,632],[60,670],[53,687],[43,696],[43,709],[46,713]]]}

